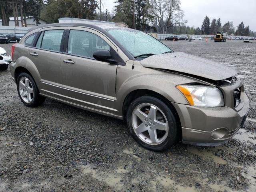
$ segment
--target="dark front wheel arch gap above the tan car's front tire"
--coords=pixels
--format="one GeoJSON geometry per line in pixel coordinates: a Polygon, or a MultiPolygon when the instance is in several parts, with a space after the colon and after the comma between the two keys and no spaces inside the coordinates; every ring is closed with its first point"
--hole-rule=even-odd
{"type": "Polygon", "coordinates": [[[156,97],[156,98],[164,101],[164,103],[167,104],[167,106],[172,110],[172,112],[174,112],[174,116],[175,116],[176,122],[178,124],[178,135],[179,135],[179,139],[181,140],[181,138],[182,138],[182,129],[181,129],[180,117],[178,115],[178,112],[176,111],[176,109],[174,108],[172,103],[166,97],[159,94],[158,92],[148,90],[148,89],[137,89],[137,90],[133,90],[132,92],[130,92],[125,97],[124,102],[123,102],[123,107],[122,107],[123,119],[126,120],[126,114],[127,114],[128,108],[130,106],[130,103],[133,100],[135,100],[136,98],[139,98],[140,96],[153,96],[153,97],[156,97]]]}

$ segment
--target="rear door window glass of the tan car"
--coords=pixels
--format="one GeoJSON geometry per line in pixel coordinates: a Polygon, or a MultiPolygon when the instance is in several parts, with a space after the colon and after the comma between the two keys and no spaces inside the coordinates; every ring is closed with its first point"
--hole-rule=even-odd
{"type": "Polygon", "coordinates": [[[44,32],[41,48],[53,51],[60,51],[60,43],[64,30],[48,30],[44,32]]]}

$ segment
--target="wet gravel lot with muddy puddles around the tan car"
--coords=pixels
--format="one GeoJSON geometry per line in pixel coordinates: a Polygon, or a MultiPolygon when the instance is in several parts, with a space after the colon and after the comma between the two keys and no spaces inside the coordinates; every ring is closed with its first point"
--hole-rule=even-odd
{"type": "MultiPolygon", "coordinates": [[[[250,113],[227,144],[140,147],[121,120],[50,99],[28,108],[0,71],[0,191],[256,191],[256,41],[163,41],[222,62],[245,78],[250,113]]],[[[12,43],[0,44],[10,54],[12,43]]]]}

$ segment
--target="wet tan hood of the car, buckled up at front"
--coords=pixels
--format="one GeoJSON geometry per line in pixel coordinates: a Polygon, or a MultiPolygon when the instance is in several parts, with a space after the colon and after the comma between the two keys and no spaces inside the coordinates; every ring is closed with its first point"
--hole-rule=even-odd
{"type": "Polygon", "coordinates": [[[223,80],[237,74],[237,71],[205,58],[173,52],[153,55],[140,61],[142,66],[182,72],[211,80],[223,80]]]}

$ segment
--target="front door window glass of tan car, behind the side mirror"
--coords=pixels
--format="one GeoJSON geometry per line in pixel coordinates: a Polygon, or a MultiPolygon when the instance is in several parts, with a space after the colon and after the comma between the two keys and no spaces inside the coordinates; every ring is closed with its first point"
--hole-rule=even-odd
{"type": "Polygon", "coordinates": [[[109,44],[91,32],[70,30],[68,53],[93,58],[96,50],[110,50],[109,44]]]}

